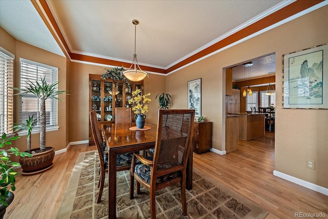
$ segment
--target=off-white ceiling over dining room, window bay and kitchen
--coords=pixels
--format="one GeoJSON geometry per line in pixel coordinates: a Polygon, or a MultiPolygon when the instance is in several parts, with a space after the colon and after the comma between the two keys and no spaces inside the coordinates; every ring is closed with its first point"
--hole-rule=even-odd
{"type": "MultiPolygon", "coordinates": [[[[71,52],[131,63],[135,18],[138,63],[167,69],[294,0],[46,2],[71,52]]],[[[64,56],[30,1],[0,0],[0,26],[19,41],[64,56]]],[[[252,77],[275,72],[272,54],[252,61],[252,77]]],[[[235,81],[243,75],[243,67],[234,69],[235,81]]]]}

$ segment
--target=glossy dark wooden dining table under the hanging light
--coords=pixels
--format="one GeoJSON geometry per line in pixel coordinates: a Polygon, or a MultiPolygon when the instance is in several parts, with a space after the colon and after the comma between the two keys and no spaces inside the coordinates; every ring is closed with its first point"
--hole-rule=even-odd
{"type": "MultiPolygon", "coordinates": [[[[155,147],[157,125],[145,124],[148,130],[130,130],[135,124],[101,125],[108,147],[108,218],[116,218],[116,155],[144,151],[155,147]]],[[[190,147],[186,188],[192,189],[193,151],[190,147]]]]}

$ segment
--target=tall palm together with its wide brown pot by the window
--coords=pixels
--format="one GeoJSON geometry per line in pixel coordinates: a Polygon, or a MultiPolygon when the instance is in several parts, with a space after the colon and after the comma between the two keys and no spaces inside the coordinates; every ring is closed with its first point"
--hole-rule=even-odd
{"type": "Polygon", "coordinates": [[[53,147],[46,147],[46,99],[49,97],[61,100],[57,97],[58,94],[66,92],[65,90],[57,90],[59,82],[48,84],[46,77],[41,78],[38,82],[27,83],[26,88],[13,88],[19,93],[14,94],[32,94],[36,96],[40,103],[40,115],[38,117],[40,124],[40,147],[31,149],[32,157],[20,157],[19,163],[22,166],[22,174],[34,174],[43,172],[52,167],[52,161],[55,156],[53,147]]]}

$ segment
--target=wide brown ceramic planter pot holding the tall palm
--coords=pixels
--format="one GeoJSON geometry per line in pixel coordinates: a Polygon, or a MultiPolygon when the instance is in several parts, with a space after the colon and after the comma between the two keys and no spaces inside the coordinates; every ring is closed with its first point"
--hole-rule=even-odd
{"type": "MultiPolygon", "coordinates": [[[[52,161],[55,156],[55,148],[46,147],[46,151],[32,153],[38,151],[39,148],[31,150],[32,157],[20,157],[19,163],[22,166],[22,174],[36,174],[44,172],[52,167],[52,161]]],[[[27,151],[25,151],[27,152],[27,151]]]]}

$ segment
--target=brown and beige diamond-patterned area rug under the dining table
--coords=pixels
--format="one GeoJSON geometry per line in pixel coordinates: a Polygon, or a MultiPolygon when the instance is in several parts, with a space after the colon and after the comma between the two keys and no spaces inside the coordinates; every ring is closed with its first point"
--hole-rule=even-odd
{"type": "MultiPolygon", "coordinates": [[[[107,175],[106,175],[107,178],[107,175]]],[[[99,162],[97,151],[79,154],[63,201],[55,218],[108,218],[108,184],[101,202],[98,195],[99,162]]],[[[129,172],[117,172],[117,218],[150,218],[149,191],[129,197],[129,172]]],[[[264,218],[268,212],[247,198],[193,169],[193,189],[186,190],[188,216],[183,216],[179,184],[156,192],[156,218],[264,218]]]]}

